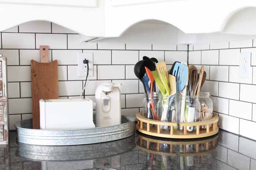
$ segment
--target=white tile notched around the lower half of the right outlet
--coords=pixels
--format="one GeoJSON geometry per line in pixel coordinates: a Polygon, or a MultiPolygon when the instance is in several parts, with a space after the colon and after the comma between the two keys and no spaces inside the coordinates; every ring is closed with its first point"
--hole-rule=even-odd
{"type": "Polygon", "coordinates": [[[252,84],[252,67],[250,78],[241,78],[239,66],[229,66],[229,82],[252,84]]]}

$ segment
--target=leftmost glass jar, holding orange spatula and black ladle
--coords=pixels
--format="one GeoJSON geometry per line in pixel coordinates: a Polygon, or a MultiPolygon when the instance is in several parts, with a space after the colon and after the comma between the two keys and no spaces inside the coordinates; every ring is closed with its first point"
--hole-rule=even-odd
{"type": "Polygon", "coordinates": [[[148,119],[154,119],[154,111],[156,115],[158,115],[158,113],[162,111],[161,110],[161,105],[162,105],[161,93],[153,92],[152,101],[153,101],[153,104],[151,104],[151,94],[145,93],[144,99],[143,99],[143,105],[142,105],[143,106],[142,116],[148,119]]]}

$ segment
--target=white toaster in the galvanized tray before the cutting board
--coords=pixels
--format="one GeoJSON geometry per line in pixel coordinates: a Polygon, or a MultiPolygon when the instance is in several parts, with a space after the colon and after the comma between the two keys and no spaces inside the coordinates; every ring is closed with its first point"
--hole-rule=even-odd
{"type": "Polygon", "coordinates": [[[39,101],[40,129],[68,130],[93,128],[93,100],[52,99],[39,101]]]}

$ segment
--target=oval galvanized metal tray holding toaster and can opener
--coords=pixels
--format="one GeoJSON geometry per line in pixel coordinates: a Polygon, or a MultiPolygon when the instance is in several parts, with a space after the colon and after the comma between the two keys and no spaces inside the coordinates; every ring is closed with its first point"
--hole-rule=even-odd
{"type": "Polygon", "coordinates": [[[30,145],[65,146],[109,142],[130,137],[135,133],[135,118],[122,116],[114,126],[78,130],[32,129],[32,119],[16,122],[18,142],[30,145]]]}

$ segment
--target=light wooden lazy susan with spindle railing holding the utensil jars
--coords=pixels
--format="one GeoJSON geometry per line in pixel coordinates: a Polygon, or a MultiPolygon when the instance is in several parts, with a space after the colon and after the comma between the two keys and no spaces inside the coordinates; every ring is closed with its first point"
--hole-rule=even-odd
{"type": "Polygon", "coordinates": [[[163,138],[178,138],[178,139],[191,139],[191,138],[204,138],[215,135],[219,132],[218,121],[219,117],[213,115],[212,119],[203,122],[187,122],[180,123],[183,130],[175,130],[177,127],[175,122],[165,122],[144,118],[140,113],[136,115],[138,123],[136,129],[144,134],[163,137],[163,138]],[[154,127],[151,124],[155,124],[154,127]],[[170,126],[170,131],[161,130],[161,125],[170,126]],[[200,126],[205,125],[206,129],[200,129],[200,126]],[[210,127],[210,125],[212,125],[210,127]],[[192,132],[187,131],[187,126],[194,126],[196,130],[192,132]]]}

